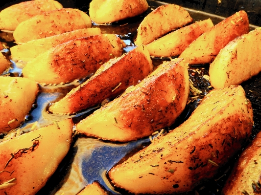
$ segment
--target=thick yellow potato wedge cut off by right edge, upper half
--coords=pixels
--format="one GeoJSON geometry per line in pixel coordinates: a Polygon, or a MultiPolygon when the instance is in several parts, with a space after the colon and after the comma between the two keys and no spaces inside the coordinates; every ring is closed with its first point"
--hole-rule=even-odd
{"type": "Polygon", "coordinates": [[[214,88],[239,85],[261,71],[261,28],[237,37],[220,50],[210,65],[214,88]],[[251,48],[251,49],[250,49],[251,48]]]}

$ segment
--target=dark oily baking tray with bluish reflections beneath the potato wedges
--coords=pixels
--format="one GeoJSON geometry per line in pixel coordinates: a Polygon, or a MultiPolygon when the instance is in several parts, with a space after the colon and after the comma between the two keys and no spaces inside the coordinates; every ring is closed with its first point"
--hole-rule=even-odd
{"type": "MultiPolygon", "coordinates": [[[[81,4],[79,3],[79,1],[70,0],[64,0],[60,2],[64,5],[64,7],[76,7],[88,13],[90,1],[81,4]]],[[[171,2],[175,3],[175,1],[171,2]]],[[[198,7],[196,7],[198,8],[197,10],[191,9],[195,8],[195,2],[196,1],[193,1],[192,4],[186,4],[186,2],[177,0],[177,4],[183,5],[190,12],[190,16],[194,19],[194,21],[211,18],[213,23],[216,24],[224,19],[222,16],[214,15],[213,13],[207,13],[204,11],[204,9],[207,9],[206,5],[208,5],[209,2],[206,0],[204,1],[205,7],[201,7],[201,10],[203,11],[198,10],[198,7]],[[186,5],[188,6],[186,7],[186,5]]],[[[113,22],[109,25],[94,24],[94,26],[99,27],[102,33],[117,34],[126,43],[127,47],[124,49],[124,51],[128,52],[135,48],[134,40],[137,36],[137,28],[139,26],[139,23],[153,9],[162,4],[166,4],[165,2],[152,0],[149,0],[148,3],[150,5],[150,8],[141,16],[119,22],[113,22]]],[[[2,8],[11,4],[12,2],[9,2],[2,6],[2,8]]],[[[216,9],[217,8],[218,7],[216,7],[216,9]]],[[[236,11],[237,10],[234,10],[234,13],[236,11]]],[[[250,30],[253,30],[256,27],[257,26],[255,25],[250,25],[250,30]]],[[[15,44],[13,42],[10,42],[12,38],[11,33],[2,32],[0,33],[0,37],[0,41],[7,43],[9,46],[15,44]],[[8,41],[5,40],[7,39],[7,37],[8,41]]],[[[9,55],[8,50],[5,50],[5,52],[6,55],[9,55]]],[[[170,59],[152,58],[152,60],[153,65],[157,66],[164,61],[169,61],[170,59]]],[[[13,63],[12,66],[13,68],[10,69],[8,72],[5,72],[4,74],[9,74],[9,76],[14,77],[21,76],[21,69],[17,68],[15,63],[13,63]]],[[[168,130],[174,129],[182,122],[184,122],[190,116],[191,112],[200,103],[200,99],[202,99],[204,95],[208,93],[210,89],[212,89],[208,88],[210,86],[210,83],[205,78],[203,78],[203,75],[208,75],[208,70],[209,65],[196,65],[189,68],[190,79],[194,83],[194,87],[200,89],[202,91],[202,94],[198,94],[199,97],[187,105],[181,116],[176,120],[175,124],[173,124],[169,128],[165,128],[166,133],[168,130]]],[[[50,102],[63,97],[68,91],[71,90],[71,88],[79,85],[79,83],[81,82],[83,82],[83,80],[76,81],[64,86],[42,86],[41,93],[39,94],[36,102],[37,108],[33,109],[30,114],[26,116],[26,121],[21,127],[24,132],[30,130],[30,127],[35,122],[37,122],[39,126],[44,126],[52,123],[52,121],[54,120],[62,120],[70,117],[73,118],[73,121],[75,123],[77,123],[79,120],[85,118],[95,109],[97,109],[91,108],[72,116],[59,116],[47,113],[46,110],[50,102]]],[[[242,87],[245,89],[246,96],[250,99],[254,110],[255,126],[251,134],[251,139],[253,139],[255,135],[260,131],[261,124],[261,74],[253,77],[247,82],[244,82],[242,84],[242,87]]],[[[9,135],[7,135],[6,137],[14,135],[15,131],[10,132],[9,135]]],[[[153,139],[153,136],[151,138],[153,139]]],[[[122,158],[127,158],[127,156],[138,150],[141,150],[150,143],[150,138],[144,138],[138,141],[120,144],[104,142],[98,139],[87,138],[77,134],[76,136],[74,136],[73,144],[70,151],[68,152],[62,163],[59,165],[57,171],[50,177],[50,179],[47,181],[46,186],[42,188],[37,193],[37,195],[63,195],[63,193],[65,195],[75,195],[82,188],[84,188],[85,185],[92,183],[93,181],[99,181],[101,185],[104,186],[104,188],[113,195],[117,195],[119,194],[119,192],[122,195],[129,195],[129,193],[122,190],[119,190],[119,192],[115,192],[110,185],[106,173],[122,158]]],[[[240,152],[238,152],[238,154],[235,154],[235,157],[231,159],[229,163],[220,168],[219,173],[213,179],[200,184],[193,191],[185,194],[220,195],[225,180],[231,172],[233,163],[235,162],[235,159],[237,159],[239,153],[240,152]]]]}

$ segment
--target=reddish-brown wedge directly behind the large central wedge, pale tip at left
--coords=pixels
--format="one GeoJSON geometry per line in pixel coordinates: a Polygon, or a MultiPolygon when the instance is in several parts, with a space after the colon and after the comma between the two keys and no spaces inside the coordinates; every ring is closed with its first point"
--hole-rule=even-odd
{"type": "Polygon", "coordinates": [[[129,86],[135,86],[152,71],[147,49],[142,45],[124,56],[102,65],[94,76],[71,90],[63,99],[49,107],[57,114],[73,114],[114,98],[129,86]],[[116,88],[117,87],[117,88],[116,88]]]}

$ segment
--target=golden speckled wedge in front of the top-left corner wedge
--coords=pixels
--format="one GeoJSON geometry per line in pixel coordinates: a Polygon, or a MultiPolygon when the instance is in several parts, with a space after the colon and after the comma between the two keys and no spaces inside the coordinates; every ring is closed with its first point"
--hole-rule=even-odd
{"type": "Polygon", "coordinates": [[[91,26],[86,13],[78,9],[58,9],[21,22],[14,31],[14,38],[17,43],[24,43],[91,26]]]}

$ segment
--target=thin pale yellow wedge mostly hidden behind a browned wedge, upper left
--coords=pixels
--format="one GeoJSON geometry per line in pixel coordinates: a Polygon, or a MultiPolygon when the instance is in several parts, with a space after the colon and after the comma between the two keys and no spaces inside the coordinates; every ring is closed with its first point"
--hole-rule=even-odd
{"type": "Polygon", "coordinates": [[[100,34],[101,31],[99,28],[83,28],[43,39],[32,40],[11,47],[11,57],[12,60],[16,62],[19,60],[28,62],[58,44],[66,43],[80,37],[89,37],[100,34]]]}

